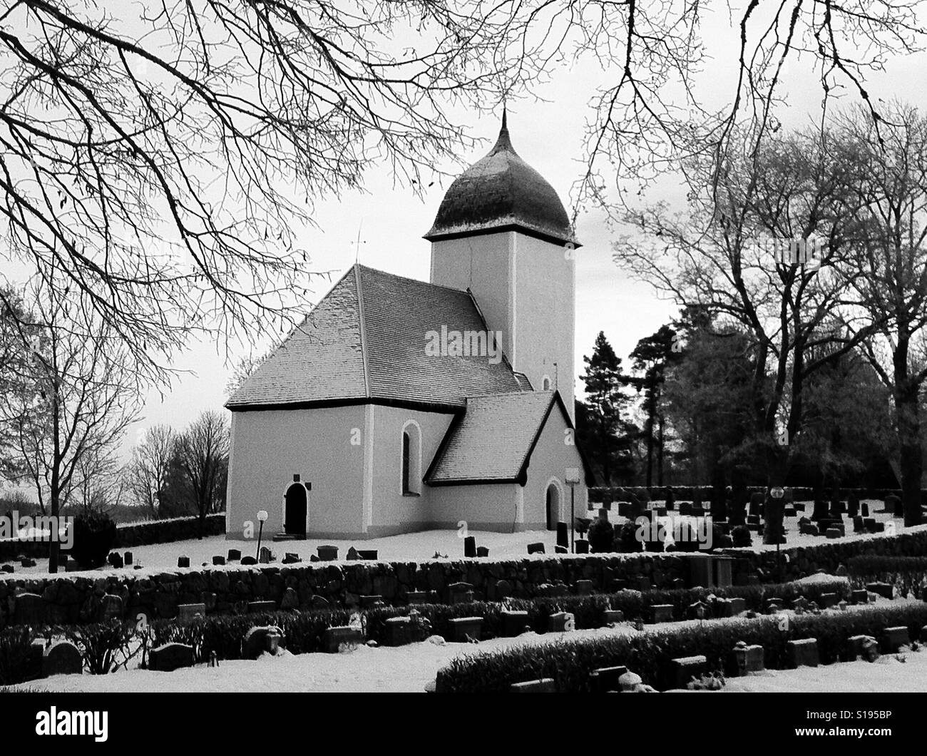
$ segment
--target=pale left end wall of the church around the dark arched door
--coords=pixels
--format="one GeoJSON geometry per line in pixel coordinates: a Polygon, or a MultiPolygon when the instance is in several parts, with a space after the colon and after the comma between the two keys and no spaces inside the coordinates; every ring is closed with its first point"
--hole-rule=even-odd
{"type": "Polygon", "coordinates": [[[283,496],[298,473],[311,482],[308,535],[362,531],[364,408],[282,409],[232,414],[226,538],[269,515],[264,535],[283,532],[283,496]]]}

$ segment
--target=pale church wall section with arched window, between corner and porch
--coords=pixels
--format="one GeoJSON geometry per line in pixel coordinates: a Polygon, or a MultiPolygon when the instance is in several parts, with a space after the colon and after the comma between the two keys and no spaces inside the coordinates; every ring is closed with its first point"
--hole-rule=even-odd
{"type": "Polygon", "coordinates": [[[376,538],[398,532],[425,530],[430,527],[433,519],[432,499],[435,489],[422,483],[418,496],[403,495],[402,429],[411,421],[421,433],[421,481],[453,416],[379,405],[374,406],[373,411],[373,496],[366,535],[376,538]]]}

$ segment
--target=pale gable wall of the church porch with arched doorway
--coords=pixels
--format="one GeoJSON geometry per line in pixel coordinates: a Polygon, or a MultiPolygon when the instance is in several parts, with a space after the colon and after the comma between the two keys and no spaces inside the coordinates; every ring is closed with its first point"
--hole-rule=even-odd
{"type": "Polygon", "coordinates": [[[570,521],[570,487],[565,483],[566,468],[579,468],[582,479],[575,487],[577,517],[586,516],[586,483],[579,456],[573,440],[573,433],[567,433],[568,426],[557,407],[553,407],[538,443],[531,454],[525,485],[525,530],[542,531],[547,527],[547,486],[552,478],[559,483],[563,493],[560,504],[560,519],[570,521]]]}

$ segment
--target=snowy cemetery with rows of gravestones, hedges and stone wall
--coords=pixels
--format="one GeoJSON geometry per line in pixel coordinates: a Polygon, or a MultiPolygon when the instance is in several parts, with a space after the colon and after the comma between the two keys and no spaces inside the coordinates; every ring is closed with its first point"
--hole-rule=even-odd
{"type": "MultiPolygon", "coordinates": [[[[190,550],[227,545],[215,537],[143,543],[63,575],[22,557],[29,567],[16,562],[0,575],[0,685],[159,689],[144,676],[199,673],[201,682],[185,677],[184,685],[210,689],[226,674],[248,677],[241,665],[261,660],[295,670],[307,655],[337,657],[331,663],[362,655],[375,673],[401,654],[428,683],[391,685],[416,690],[745,690],[744,676],[780,675],[762,679],[787,687],[806,667],[918,656],[927,640],[927,526],[904,528],[891,501],[857,509],[866,506],[882,528],[850,527],[837,538],[796,532],[803,509],[809,522],[832,527],[849,511],[796,502],[784,543],[771,546],[753,537],[764,524],[758,506],[743,513],[756,526],[750,545],[733,545],[725,536],[736,515],[684,504],[596,502],[589,525],[607,523],[613,540],[603,544],[589,527],[572,549],[560,523],[556,533],[519,533],[511,543],[482,532],[446,540],[450,556],[427,558],[425,549],[418,561],[386,558],[383,542],[318,545],[314,554],[311,542],[286,543],[284,554],[272,544],[257,546],[257,558],[255,545],[240,543],[211,558],[190,550]],[[711,532],[714,543],[630,542],[641,517],[701,519],[692,531],[711,532]]],[[[438,532],[414,535],[434,547],[428,536],[438,532]]],[[[836,672],[827,679],[842,685],[836,672]]]]}

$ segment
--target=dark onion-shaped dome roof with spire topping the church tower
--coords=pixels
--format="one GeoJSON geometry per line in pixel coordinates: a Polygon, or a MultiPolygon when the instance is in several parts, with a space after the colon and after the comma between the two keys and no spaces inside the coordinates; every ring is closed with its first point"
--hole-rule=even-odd
{"type": "Polygon", "coordinates": [[[512,147],[503,113],[495,146],[454,180],[425,238],[435,241],[513,229],[579,246],[557,192],[512,147]]]}

